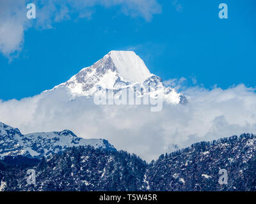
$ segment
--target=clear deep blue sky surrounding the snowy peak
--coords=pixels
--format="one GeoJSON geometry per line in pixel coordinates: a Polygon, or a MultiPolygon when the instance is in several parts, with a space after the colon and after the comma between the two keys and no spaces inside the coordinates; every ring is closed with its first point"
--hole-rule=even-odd
{"type": "Polygon", "coordinates": [[[161,11],[152,18],[125,15],[120,5],[96,5],[88,9],[93,11],[89,18],[74,12],[69,19],[52,21],[51,29],[36,26],[36,17],[24,31],[19,55],[10,60],[0,54],[0,99],[51,89],[111,50],[134,50],[163,80],[193,77],[209,89],[215,84],[223,89],[240,83],[256,86],[254,0],[157,4],[161,11]],[[220,3],[228,5],[228,19],[218,18],[220,3]]]}

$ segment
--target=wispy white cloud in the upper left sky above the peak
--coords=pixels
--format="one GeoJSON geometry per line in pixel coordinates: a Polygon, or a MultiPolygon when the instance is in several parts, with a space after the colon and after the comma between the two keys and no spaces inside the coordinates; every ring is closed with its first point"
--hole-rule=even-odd
{"type": "Polygon", "coordinates": [[[150,21],[161,13],[157,0],[35,0],[36,19],[26,18],[29,0],[0,0],[0,52],[6,57],[19,54],[24,42],[24,31],[32,27],[51,29],[54,22],[77,18],[92,18],[94,6],[116,6],[125,15],[143,17],[150,21]]]}

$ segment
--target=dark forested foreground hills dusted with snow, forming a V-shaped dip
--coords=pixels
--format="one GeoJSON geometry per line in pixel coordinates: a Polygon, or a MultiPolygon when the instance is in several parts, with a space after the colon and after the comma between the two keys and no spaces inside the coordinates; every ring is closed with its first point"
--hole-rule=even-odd
{"type": "Polygon", "coordinates": [[[256,191],[256,135],[200,142],[147,163],[135,154],[70,147],[47,159],[5,156],[0,191],[256,191]],[[36,172],[28,184],[26,172],[36,172]],[[227,171],[227,184],[219,182],[227,171]]]}

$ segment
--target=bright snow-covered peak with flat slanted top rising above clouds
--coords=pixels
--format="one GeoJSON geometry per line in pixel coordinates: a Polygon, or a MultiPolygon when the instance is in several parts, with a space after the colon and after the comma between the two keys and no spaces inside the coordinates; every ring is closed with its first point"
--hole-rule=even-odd
{"type": "Polygon", "coordinates": [[[67,82],[52,90],[65,87],[74,98],[92,97],[108,90],[116,96],[131,89],[136,97],[148,94],[151,98],[163,97],[167,103],[184,103],[186,98],[172,87],[165,87],[160,77],[150,73],[143,60],[133,51],[111,51],[92,66],[81,69],[67,82]],[[150,87],[150,88],[148,88],[150,87]]]}

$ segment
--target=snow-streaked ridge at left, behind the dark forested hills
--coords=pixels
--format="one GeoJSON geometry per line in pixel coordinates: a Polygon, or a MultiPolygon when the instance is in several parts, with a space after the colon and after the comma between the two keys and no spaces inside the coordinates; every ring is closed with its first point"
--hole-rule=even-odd
{"type": "Polygon", "coordinates": [[[63,152],[68,147],[80,145],[115,150],[107,140],[79,138],[69,130],[22,135],[19,129],[0,122],[0,157],[17,155],[47,157],[63,152]]]}

